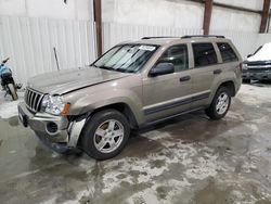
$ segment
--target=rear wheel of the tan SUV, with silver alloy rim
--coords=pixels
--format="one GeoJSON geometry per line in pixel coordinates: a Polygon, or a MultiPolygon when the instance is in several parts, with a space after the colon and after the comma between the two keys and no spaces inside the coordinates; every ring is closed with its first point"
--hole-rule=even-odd
{"type": "Polygon", "coordinates": [[[231,106],[231,93],[227,87],[220,87],[216,92],[210,106],[205,110],[211,119],[221,119],[231,106]]]}

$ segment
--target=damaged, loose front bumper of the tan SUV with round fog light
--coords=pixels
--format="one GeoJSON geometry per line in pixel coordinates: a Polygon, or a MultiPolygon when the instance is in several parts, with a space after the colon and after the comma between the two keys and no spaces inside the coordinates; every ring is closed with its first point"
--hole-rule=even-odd
{"type": "Polygon", "coordinates": [[[47,113],[33,113],[24,102],[18,104],[18,118],[25,127],[30,127],[38,138],[53,149],[77,148],[77,141],[86,119],[68,122],[66,117],[47,113]],[[50,126],[53,124],[53,131],[50,126]]]}

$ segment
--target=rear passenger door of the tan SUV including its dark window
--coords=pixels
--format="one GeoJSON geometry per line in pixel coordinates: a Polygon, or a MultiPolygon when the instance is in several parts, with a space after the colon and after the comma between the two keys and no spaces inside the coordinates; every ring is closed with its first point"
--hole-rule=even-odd
{"type": "Polygon", "coordinates": [[[209,103],[214,80],[222,72],[216,48],[216,44],[212,42],[192,43],[194,59],[192,74],[194,98],[191,105],[192,109],[205,106],[209,103]]]}

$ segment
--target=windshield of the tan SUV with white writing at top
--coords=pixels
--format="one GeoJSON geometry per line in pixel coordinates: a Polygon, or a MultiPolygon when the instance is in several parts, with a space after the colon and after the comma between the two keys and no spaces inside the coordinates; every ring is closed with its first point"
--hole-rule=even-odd
{"type": "Polygon", "coordinates": [[[157,46],[146,44],[117,46],[100,58],[93,66],[124,73],[137,73],[144,66],[157,48],[157,46]]]}

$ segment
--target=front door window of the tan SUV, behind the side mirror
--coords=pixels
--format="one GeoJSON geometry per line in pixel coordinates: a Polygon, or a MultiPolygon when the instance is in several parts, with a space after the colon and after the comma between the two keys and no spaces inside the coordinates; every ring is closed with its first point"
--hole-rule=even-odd
{"type": "Polygon", "coordinates": [[[157,63],[172,63],[176,73],[189,69],[188,47],[185,44],[170,47],[157,63]]]}

